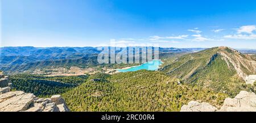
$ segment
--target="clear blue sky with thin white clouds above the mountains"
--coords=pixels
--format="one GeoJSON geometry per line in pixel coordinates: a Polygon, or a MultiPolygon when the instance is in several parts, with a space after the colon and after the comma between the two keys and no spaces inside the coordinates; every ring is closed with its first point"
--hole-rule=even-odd
{"type": "Polygon", "coordinates": [[[1,0],[1,46],[256,49],[256,1],[1,0]]]}

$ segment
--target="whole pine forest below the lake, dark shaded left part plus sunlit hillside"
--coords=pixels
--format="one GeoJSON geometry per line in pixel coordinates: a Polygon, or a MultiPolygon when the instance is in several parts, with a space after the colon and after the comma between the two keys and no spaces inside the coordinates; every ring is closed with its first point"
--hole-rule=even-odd
{"type": "Polygon", "coordinates": [[[226,94],[180,84],[160,71],[77,77],[11,75],[13,90],[49,97],[63,95],[72,111],[179,111],[189,100],[221,105],[226,94]]]}

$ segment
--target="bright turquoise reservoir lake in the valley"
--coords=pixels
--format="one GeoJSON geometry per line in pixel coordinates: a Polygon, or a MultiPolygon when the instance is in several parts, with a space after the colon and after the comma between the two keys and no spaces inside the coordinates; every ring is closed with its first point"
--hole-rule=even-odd
{"type": "Polygon", "coordinates": [[[152,60],[146,63],[143,63],[139,66],[130,67],[129,69],[118,69],[119,72],[129,72],[129,71],[137,71],[137,70],[158,70],[158,67],[162,64],[160,60],[152,60]]]}

